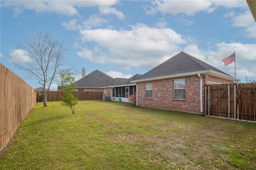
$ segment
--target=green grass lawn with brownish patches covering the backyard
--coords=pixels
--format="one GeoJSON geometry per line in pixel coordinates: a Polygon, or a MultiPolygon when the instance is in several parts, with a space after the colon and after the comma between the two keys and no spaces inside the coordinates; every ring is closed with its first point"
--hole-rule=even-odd
{"type": "Polygon", "coordinates": [[[80,101],[37,103],[1,170],[256,169],[256,123],[80,101]]]}

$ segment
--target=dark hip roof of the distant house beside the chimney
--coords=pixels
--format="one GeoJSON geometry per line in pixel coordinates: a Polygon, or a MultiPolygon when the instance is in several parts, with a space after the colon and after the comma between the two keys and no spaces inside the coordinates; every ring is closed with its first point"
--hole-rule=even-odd
{"type": "Polygon", "coordinates": [[[77,87],[87,87],[87,88],[101,88],[108,81],[114,78],[102,73],[99,70],[92,71],[92,73],[86,75],[84,78],[76,81],[77,87]]]}

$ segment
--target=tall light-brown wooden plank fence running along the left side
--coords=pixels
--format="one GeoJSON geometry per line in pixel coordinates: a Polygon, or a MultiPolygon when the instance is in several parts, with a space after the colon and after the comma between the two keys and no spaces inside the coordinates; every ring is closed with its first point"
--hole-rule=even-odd
{"type": "Polygon", "coordinates": [[[36,104],[36,93],[24,80],[0,63],[0,150],[36,104]]]}

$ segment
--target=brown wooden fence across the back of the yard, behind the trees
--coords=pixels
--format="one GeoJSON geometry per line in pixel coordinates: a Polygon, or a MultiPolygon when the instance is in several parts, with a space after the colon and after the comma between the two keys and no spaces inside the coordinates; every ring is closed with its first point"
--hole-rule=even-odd
{"type": "MultiPolygon", "coordinates": [[[[39,94],[42,94],[42,91],[37,92],[37,100],[39,94]]],[[[73,91],[74,97],[78,98],[80,101],[83,100],[102,100],[103,93],[102,91],[73,91]]],[[[47,101],[62,101],[60,97],[63,96],[62,91],[49,91],[47,96],[47,101]]]]}

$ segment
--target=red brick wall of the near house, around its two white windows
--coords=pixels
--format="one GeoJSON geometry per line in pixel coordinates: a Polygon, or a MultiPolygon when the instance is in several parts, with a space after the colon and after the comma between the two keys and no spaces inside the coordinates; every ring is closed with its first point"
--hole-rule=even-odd
{"type": "MultiPolygon", "coordinates": [[[[220,79],[218,77],[212,77],[209,75],[202,75],[203,77],[203,109],[204,109],[204,85],[208,81],[215,81],[219,83],[232,83],[220,79]]],[[[174,111],[184,111],[191,113],[200,113],[200,78],[197,75],[189,77],[177,77],[185,78],[185,99],[174,99],[174,79],[164,79],[150,81],[152,82],[152,99],[146,99],[145,97],[145,83],[138,83],[138,106],[150,107],[156,109],[167,109],[174,111]]]]}

